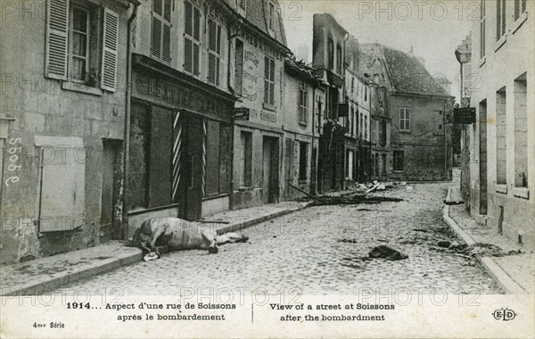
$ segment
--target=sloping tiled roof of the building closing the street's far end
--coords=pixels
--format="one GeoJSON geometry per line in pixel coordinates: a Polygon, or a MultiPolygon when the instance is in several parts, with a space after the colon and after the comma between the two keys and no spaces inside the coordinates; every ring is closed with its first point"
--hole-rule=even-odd
{"type": "MultiPolygon", "coordinates": [[[[365,44],[369,47],[372,44],[365,44]]],[[[386,45],[378,46],[383,54],[393,90],[402,94],[451,96],[440,86],[414,55],[386,45]]],[[[365,52],[366,53],[366,52],[365,52]]]]}

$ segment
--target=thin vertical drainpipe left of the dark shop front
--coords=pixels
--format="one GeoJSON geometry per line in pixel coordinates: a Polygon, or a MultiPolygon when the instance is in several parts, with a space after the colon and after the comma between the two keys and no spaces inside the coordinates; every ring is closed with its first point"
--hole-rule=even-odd
{"type": "Polygon", "coordinates": [[[136,19],[138,5],[134,4],[134,11],[130,18],[128,18],[128,44],[127,44],[127,94],[126,94],[126,112],[125,112],[125,149],[123,154],[123,227],[122,227],[122,238],[124,240],[128,239],[128,194],[127,194],[127,185],[128,185],[128,159],[130,157],[130,102],[132,98],[132,22],[136,19]]]}

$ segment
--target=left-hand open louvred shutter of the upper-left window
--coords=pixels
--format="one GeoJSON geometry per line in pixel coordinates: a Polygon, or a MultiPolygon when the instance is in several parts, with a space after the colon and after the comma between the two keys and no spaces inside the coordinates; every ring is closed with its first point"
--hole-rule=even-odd
{"type": "Polygon", "coordinates": [[[67,80],[69,0],[47,0],[45,77],[67,80]]]}

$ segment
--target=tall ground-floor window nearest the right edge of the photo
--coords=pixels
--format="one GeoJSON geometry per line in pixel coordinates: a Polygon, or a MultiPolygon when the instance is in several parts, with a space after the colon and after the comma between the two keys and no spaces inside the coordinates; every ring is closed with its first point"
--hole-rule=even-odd
{"type": "Polygon", "coordinates": [[[526,74],[514,80],[514,186],[528,186],[528,117],[526,74]]]}

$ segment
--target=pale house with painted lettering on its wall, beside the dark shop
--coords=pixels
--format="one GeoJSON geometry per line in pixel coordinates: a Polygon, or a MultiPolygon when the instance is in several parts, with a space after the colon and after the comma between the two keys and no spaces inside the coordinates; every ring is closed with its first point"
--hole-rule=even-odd
{"type": "Polygon", "coordinates": [[[229,37],[234,60],[228,83],[235,107],[248,111],[235,120],[232,206],[276,203],[281,199],[286,47],[276,0],[226,0],[237,14],[229,37]]]}

